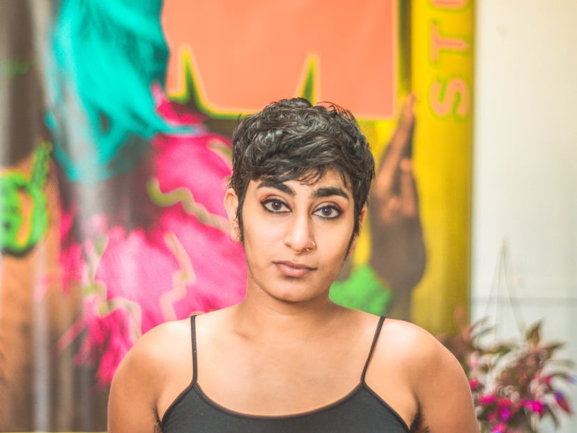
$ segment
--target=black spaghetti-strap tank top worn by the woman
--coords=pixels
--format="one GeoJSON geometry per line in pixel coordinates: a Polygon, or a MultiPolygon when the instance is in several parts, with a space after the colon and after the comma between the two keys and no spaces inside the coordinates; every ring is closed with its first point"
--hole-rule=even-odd
{"type": "Polygon", "coordinates": [[[176,397],[162,416],[164,433],[408,433],[403,419],[382,400],[364,381],[380,328],[385,317],[380,317],[375,336],[364,363],[360,383],[341,399],[324,407],[286,416],[255,416],[241,414],[210,400],[197,384],[197,342],[194,316],[192,333],[192,382],[176,397]]]}

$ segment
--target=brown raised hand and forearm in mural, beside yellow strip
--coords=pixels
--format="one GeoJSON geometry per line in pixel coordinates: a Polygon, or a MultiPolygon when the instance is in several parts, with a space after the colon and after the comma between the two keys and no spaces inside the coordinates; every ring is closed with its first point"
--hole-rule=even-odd
{"type": "Polygon", "coordinates": [[[425,266],[425,249],[413,176],[415,98],[403,106],[399,125],[380,161],[369,197],[370,264],[394,290],[392,317],[410,319],[410,295],[425,266]]]}

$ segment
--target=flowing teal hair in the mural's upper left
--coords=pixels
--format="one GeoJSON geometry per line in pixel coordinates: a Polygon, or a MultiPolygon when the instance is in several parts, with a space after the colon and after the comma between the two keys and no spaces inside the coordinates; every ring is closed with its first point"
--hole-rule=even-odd
{"type": "Polygon", "coordinates": [[[128,171],[157,132],[168,48],[160,0],[65,0],[47,49],[47,125],[68,178],[98,182],[128,171]]]}

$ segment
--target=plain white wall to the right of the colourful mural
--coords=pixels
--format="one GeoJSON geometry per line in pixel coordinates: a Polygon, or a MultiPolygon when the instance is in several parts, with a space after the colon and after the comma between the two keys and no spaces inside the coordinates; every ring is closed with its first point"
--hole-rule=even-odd
{"type": "MultiPolygon", "coordinates": [[[[577,361],[577,0],[475,8],[472,318],[500,336],[542,318],[577,361]]],[[[570,397],[577,411],[577,384],[570,397]]]]}

